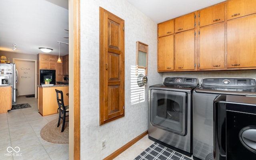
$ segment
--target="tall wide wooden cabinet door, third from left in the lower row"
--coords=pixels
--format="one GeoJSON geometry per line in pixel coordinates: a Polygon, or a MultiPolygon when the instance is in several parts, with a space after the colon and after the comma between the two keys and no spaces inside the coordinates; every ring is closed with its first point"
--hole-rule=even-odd
{"type": "Polygon", "coordinates": [[[200,28],[199,68],[225,68],[225,23],[200,28]]]}

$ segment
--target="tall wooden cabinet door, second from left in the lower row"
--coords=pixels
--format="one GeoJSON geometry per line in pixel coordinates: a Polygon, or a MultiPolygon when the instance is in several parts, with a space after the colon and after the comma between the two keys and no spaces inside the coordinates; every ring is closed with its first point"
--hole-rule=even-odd
{"type": "Polygon", "coordinates": [[[175,70],[195,69],[195,31],[184,31],[175,35],[175,70]]]}

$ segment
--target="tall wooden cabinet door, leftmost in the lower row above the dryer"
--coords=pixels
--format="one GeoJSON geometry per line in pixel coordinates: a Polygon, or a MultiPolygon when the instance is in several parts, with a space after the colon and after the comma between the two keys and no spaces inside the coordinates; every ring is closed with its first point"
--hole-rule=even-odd
{"type": "Polygon", "coordinates": [[[174,35],[158,39],[158,72],[174,70],[174,35]]]}

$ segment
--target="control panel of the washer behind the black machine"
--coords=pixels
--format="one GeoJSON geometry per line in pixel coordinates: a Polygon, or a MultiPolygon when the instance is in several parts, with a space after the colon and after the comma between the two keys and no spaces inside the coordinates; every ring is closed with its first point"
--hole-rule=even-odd
{"type": "Polygon", "coordinates": [[[202,86],[255,87],[255,78],[203,78],[202,86]]]}

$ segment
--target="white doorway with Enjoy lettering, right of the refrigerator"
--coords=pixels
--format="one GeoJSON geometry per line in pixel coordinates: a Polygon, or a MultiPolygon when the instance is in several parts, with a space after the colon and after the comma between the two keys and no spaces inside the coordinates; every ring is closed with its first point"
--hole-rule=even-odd
{"type": "Polygon", "coordinates": [[[36,86],[36,60],[13,59],[18,71],[18,82],[16,96],[35,95],[37,98],[36,86]]]}

